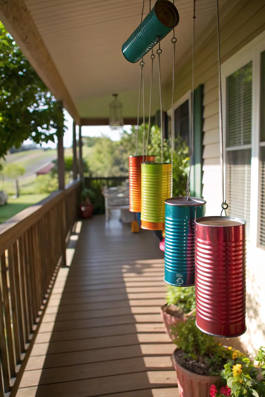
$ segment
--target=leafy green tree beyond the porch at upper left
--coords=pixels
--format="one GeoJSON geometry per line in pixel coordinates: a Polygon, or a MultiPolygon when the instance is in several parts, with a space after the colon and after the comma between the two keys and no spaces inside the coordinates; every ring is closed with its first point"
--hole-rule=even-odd
{"type": "Polygon", "coordinates": [[[29,137],[54,142],[64,128],[60,102],[0,22],[0,158],[29,137]]]}

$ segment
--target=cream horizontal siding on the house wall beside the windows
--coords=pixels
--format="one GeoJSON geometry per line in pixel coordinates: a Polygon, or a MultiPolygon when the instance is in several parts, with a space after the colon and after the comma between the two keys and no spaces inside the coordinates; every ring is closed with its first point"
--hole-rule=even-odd
{"type": "MultiPolygon", "coordinates": [[[[227,2],[229,12],[221,10],[220,39],[221,62],[235,54],[240,48],[253,40],[265,30],[264,0],[231,0],[227,2]]],[[[219,138],[219,77],[217,54],[216,20],[211,21],[203,33],[205,38],[195,36],[195,88],[203,84],[203,198],[207,200],[206,215],[217,215],[221,212],[221,166],[219,138]],[[208,32],[208,36],[206,36],[208,32]],[[198,43],[198,44],[197,44],[198,43]]],[[[202,35],[202,36],[203,36],[202,35]]],[[[191,54],[191,49],[190,49],[191,54]]],[[[187,57],[186,57],[187,59],[187,57]]],[[[181,62],[181,60],[180,60],[181,62]]],[[[176,61],[176,66],[178,60],[176,61]]],[[[191,89],[192,58],[182,67],[176,68],[174,102],[191,89]]],[[[172,83],[164,87],[167,110],[170,109],[172,83]]],[[[196,148],[195,148],[196,150],[196,148]]],[[[250,262],[249,262],[250,263],[250,262]]],[[[263,263],[264,265],[264,263],[263,263]]],[[[261,270],[260,270],[261,271],[261,270]]],[[[248,270],[247,306],[248,331],[240,341],[250,352],[265,344],[265,318],[261,302],[265,302],[265,293],[260,293],[262,285],[254,277],[253,268],[248,270]],[[256,291],[259,291],[257,298],[256,291]],[[255,335],[255,337],[254,337],[255,335]],[[257,335],[257,337],[256,337],[257,335]]]]}

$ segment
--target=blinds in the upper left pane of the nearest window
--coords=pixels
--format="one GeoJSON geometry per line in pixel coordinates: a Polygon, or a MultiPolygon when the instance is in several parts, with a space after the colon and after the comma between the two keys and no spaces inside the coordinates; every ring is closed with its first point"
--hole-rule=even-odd
{"type": "Polygon", "coordinates": [[[251,143],[252,62],[227,78],[228,134],[226,146],[251,143]]]}

